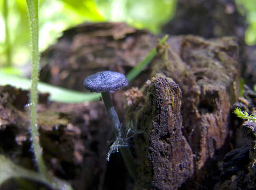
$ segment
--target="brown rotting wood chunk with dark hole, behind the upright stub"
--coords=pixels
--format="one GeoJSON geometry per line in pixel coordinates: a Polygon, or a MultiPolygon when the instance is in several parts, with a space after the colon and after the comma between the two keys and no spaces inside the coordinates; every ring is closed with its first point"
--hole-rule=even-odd
{"type": "Polygon", "coordinates": [[[183,132],[197,172],[204,173],[206,160],[229,135],[229,111],[238,93],[238,44],[229,37],[211,41],[195,36],[171,38],[168,43],[162,55],[166,61],[156,62],[152,74],[162,72],[181,87],[183,132]]]}

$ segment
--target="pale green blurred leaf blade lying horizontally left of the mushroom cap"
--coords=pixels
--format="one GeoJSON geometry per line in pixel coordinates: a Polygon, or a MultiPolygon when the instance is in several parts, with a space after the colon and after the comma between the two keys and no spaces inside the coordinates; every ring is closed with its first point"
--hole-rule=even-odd
{"type": "MultiPolygon", "coordinates": [[[[31,81],[22,77],[17,77],[12,74],[5,74],[0,71],[0,84],[10,84],[16,88],[30,89],[31,81]]],[[[95,101],[99,99],[99,93],[83,93],[74,90],[56,87],[44,82],[39,82],[38,89],[40,92],[49,92],[50,101],[57,101],[63,103],[79,103],[85,101],[95,101]]]]}

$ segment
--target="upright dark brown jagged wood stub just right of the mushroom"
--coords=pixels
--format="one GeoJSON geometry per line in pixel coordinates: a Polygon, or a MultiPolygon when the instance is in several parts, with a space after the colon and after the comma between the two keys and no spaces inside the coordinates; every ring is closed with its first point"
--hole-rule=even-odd
{"type": "Polygon", "coordinates": [[[132,106],[127,107],[128,119],[142,131],[134,142],[139,160],[135,189],[177,189],[194,167],[191,147],[182,135],[181,89],[172,79],[156,75],[143,94],[144,104],[135,115],[128,111],[132,106]]]}

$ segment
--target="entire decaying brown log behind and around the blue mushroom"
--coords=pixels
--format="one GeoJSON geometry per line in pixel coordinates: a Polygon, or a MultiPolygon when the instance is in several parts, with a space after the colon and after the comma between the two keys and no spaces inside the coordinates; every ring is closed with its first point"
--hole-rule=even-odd
{"type": "MultiPolygon", "coordinates": [[[[42,68],[41,79],[83,90],[87,75],[102,70],[127,73],[156,44],[156,36],[122,23],[87,23],[64,32],[59,43],[42,54],[42,63],[49,64],[42,68]]],[[[238,92],[238,43],[232,37],[185,35],[170,37],[157,49],[156,58],[127,87],[126,111],[123,91],[113,95],[122,124],[137,127],[131,141],[139,172],[135,188],[210,188],[216,164],[235,136],[229,112],[238,92]]],[[[18,110],[12,101],[9,105],[7,110],[18,110]]],[[[44,158],[52,173],[79,190],[131,189],[118,154],[106,164],[111,131],[102,102],[45,102],[40,109],[44,158]],[[49,117],[54,122],[49,123],[49,117]],[[55,152],[56,145],[60,148],[55,152]]],[[[6,129],[16,114],[8,113],[6,129]]],[[[24,111],[20,113],[25,118],[17,118],[15,126],[28,122],[24,111]]],[[[21,127],[27,130],[27,125],[21,127]]]]}

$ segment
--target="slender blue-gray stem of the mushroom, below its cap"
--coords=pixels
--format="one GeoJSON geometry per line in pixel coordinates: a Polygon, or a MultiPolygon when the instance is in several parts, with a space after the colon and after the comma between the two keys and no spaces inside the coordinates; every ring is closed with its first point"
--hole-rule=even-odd
{"type": "MultiPolygon", "coordinates": [[[[110,94],[109,92],[101,92],[101,96],[107,109],[108,115],[111,119],[113,131],[116,137],[122,138],[122,133],[124,132],[124,130],[122,130],[121,128],[121,124],[117,112],[113,106],[112,100],[110,98],[110,94]]],[[[128,146],[120,146],[118,148],[121,152],[122,158],[124,159],[125,165],[128,169],[130,176],[135,180],[137,177],[136,166],[130,148],[128,146]]]]}

